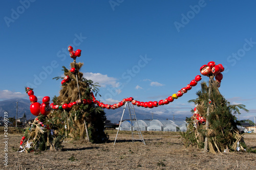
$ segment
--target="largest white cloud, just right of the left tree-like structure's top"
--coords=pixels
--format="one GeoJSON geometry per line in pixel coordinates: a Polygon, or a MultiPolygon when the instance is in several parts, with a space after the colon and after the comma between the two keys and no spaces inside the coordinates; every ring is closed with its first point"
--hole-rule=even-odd
{"type": "Polygon", "coordinates": [[[108,75],[102,75],[100,73],[84,72],[83,77],[88,80],[92,80],[94,83],[99,83],[101,87],[106,87],[106,85],[111,85],[112,87],[118,87],[117,79],[113,77],[108,77],[108,75]]]}

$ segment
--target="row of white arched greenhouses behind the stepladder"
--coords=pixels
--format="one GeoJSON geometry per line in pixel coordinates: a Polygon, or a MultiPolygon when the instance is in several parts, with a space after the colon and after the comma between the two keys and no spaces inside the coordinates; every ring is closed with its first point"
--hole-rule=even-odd
{"type": "MultiPolygon", "coordinates": [[[[169,132],[185,132],[187,130],[187,123],[183,120],[138,120],[138,125],[133,121],[133,130],[138,131],[138,126],[141,131],[169,131],[169,132]]],[[[131,131],[131,121],[124,120],[121,125],[121,131],[131,131]]]]}

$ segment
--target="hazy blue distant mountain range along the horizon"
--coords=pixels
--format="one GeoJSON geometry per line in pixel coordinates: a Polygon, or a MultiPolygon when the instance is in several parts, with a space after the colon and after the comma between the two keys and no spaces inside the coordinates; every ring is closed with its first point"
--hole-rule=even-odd
{"type": "MultiPolygon", "coordinates": [[[[16,118],[16,107],[18,102],[18,117],[22,117],[24,113],[26,113],[27,119],[35,118],[33,114],[30,112],[30,101],[27,99],[16,98],[16,99],[9,99],[5,101],[0,101],[0,116],[4,116],[4,112],[8,112],[8,117],[15,117],[16,118]]],[[[41,102],[40,102],[41,103],[41,102]]],[[[104,109],[106,113],[106,118],[111,120],[112,123],[119,123],[121,120],[121,116],[123,113],[123,109],[115,109],[115,110],[108,110],[104,109]]],[[[143,111],[140,109],[136,109],[136,117],[138,120],[145,120],[145,119],[152,119],[152,113],[149,111],[143,111]]],[[[167,111],[166,111],[167,112],[167,111]]],[[[161,116],[158,114],[153,114],[154,119],[161,119],[161,120],[172,120],[172,115],[168,116],[161,116]]],[[[129,117],[129,110],[125,109],[123,120],[130,119],[129,117]]],[[[184,117],[185,119],[185,117],[184,117]]],[[[179,120],[184,120],[179,119],[179,120]]],[[[178,120],[178,119],[176,119],[178,120]]]]}

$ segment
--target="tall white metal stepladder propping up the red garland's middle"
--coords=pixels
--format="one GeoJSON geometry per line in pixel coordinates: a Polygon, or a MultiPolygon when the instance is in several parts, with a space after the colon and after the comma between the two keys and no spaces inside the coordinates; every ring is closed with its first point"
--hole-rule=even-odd
{"type": "MultiPolygon", "coordinates": [[[[139,124],[138,124],[138,121],[137,121],[134,106],[132,105],[132,107],[131,107],[131,102],[125,102],[124,107],[123,107],[123,114],[124,114],[124,111],[125,111],[126,107],[129,110],[133,142],[134,142],[134,140],[141,140],[145,144],[145,141],[142,137],[140,127],[139,127],[139,124]],[[137,138],[135,138],[135,137],[137,137],[137,138]]],[[[121,120],[120,120],[120,123],[119,123],[119,127],[118,127],[118,130],[117,130],[117,133],[116,133],[116,138],[117,138],[117,135],[118,135],[121,123],[122,123],[123,114],[122,114],[122,117],[121,117],[121,120]]],[[[116,139],[115,139],[114,145],[115,145],[115,143],[116,143],[116,139]]]]}

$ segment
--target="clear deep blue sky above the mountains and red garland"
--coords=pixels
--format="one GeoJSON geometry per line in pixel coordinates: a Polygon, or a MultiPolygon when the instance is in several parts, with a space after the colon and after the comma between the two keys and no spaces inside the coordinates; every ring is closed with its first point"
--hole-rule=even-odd
{"type": "MultiPolygon", "coordinates": [[[[225,67],[220,91],[244,104],[240,119],[254,119],[255,1],[4,1],[0,100],[58,95],[61,66],[70,68],[67,47],[82,50],[84,76],[99,82],[114,104],[133,96],[159,101],[200,75],[209,61],[225,67]],[[249,91],[247,91],[249,90],[249,91]]],[[[203,81],[208,81],[203,77],[203,81]]],[[[197,85],[169,105],[150,112],[189,115],[197,85]]],[[[137,108],[142,109],[142,108],[137,108]]],[[[150,113],[149,112],[149,113],[150,113]]]]}

